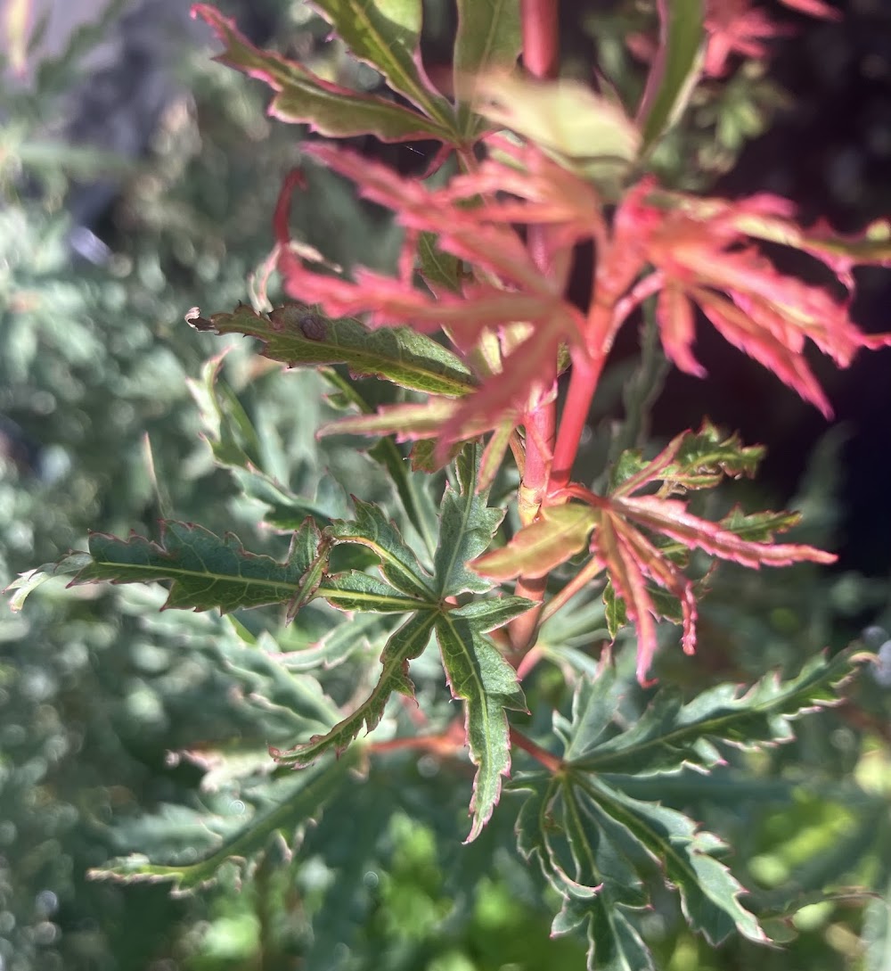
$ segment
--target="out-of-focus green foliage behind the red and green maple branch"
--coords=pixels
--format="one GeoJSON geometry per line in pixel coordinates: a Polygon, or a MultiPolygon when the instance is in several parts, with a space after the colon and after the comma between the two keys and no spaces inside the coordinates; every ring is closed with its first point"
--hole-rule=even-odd
{"type": "MultiPolygon", "coordinates": [[[[302,20],[281,29],[311,50],[323,32],[302,20]]],[[[337,57],[326,56],[336,71],[337,57]]],[[[283,374],[232,338],[225,361],[205,366],[218,340],[181,320],[194,304],[247,298],[244,282],[269,249],[268,214],[293,159],[293,130],[270,125],[260,91],[196,53],[188,62],[191,99],[165,117],[151,161],[128,173],[128,231],[110,265],[90,268],[72,261],[59,207],[61,187],[83,159],[58,149],[40,165],[29,161],[64,76],[47,72],[34,96],[11,97],[5,109],[22,134],[4,154],[0,394],[3,413],[39,443],[33,460],[6,463],[0,484],[6,576],[82,549],[87,528],[154,536],[156,520],[174,514],[218,533],[234,529],[251,550],[281,558],[286,543],[254,527],[258,511],[279,524],[311,511],[341,517],[347,497],[337,481],[361,482],[364,498],[395,508],[376,485],[373,458],[345,458],[330,440],[315,441],[315,427],[331,414],[322,414],[313,375],[283,374]],[[46,191],[22,192],[21,171],[46,191]],[[213,385],[217,369],[222,384],[213,385]]],[[[714,111],[726,118],[731,109],[714,111]]],[[[359,208],[333,176],[319,171],[314,179],[295,216],[309,241],[347,268],[359,253],[367,262],[369,251],[381,268],[389,265],[399,238],[380,211],[359,208]]],[[[631,364],[621,377],[645,382],[652,366],[631,364]]],[[[830,435],[811,456],[794,504],[809,522],[803,541],[832,545],[839,449],[830,435]]],[[[250,777],[238,758],[330,720],[324,698],[295,696],[293,680],[268,663],[263,630],[278,623],[271,615],[233,622],[214,613],[155,614],[163,597],[134,587],[45,590],[0,627],[7,966],[276,968],[298,955],[319,968],[583,966],[573,939],[548,940],[548,911],[526,867],[504,850],[507,814],[496,813],[471,847],[459,846],[470,778],[459,791],[460,773],[434,757],[393,755],[358,785],[345,756],[325,785],[349,795],[304,834],[299,865],[279,842],[244,883],[235,868],[224,869],[216,887],[187,898],[171,899],[164,886],[86,881],[88,868],[133,850],[163,851],[186,866],[249,814],[274,813],[299,797],[314,777],[251,790],[239,782],[250,777]],[[232,764],[210,754],[224,743],[232,764]],[[187,757],[167,754],[183,749],[187,757]]],[[[766,668],[794,669],[823,645],[842,648],[863,619],[881,622],[885,598],[884,583],[856,575],[801,567],[778,583],[726,570],[704,605],[710,652],[696,669],[673,668],[669,659],[660,677],[694,691],[728,677],[750,682],[766,668]]],[[[330,625],[324,608],[301,618],[276,631],[281,650],[310,648],[330,625]]],[[[351,630],[322,642],[332,665],[364,650],[380,620],[367,622],[362,637],[351,630]]],[[[605,622],[561,617],[549,636],[583,648],[605,622]]],[[[880,630],[869,638],[878,648],[880,630]]],[[[579,651],[578,663],[583,657],[579,651]]],[[[619,659],[617,677],[628,680],[633,657],[626,651],[619,659]]],[[[424,663],[415,662],[413,677],[424,711],[436,717],[448,711],[448,695],[424,663]]],[[[355,688],[344,672],[333,666],[326,681],[338,702],[355,688]]],[[[610,690],[608,680],[598,684],[610,690]]],[[[557,689],[546,677],[537,686],[545,698],[557,689]]],[[[643,702],[626,700],[629,723],[643,702]]],[[[891,858],[888,713],[882,686],[862,678],[848,706],[800,721],[791,744],[734,755],[710,777],[662,779],[658,792],[645,780],[632,787],[637,798],[660,798],[728,839],[735,872],[760,887],[763,908],[782,915],[796,892],[816,893],[782,954],[738,940],[712,952],[666,895],[644,921],[660,967],[883,967],[891,939],[881,899],[891,886],[883,862],[891,858]],[[743,768],[741,799],[735,773],[743,768]],[[850,883],[875,887],[879,897],[845,891],[836,879],[845,859],[856,861],[850,883]]],[[[382,727],[395,731],[408,718],[390,712],[382,727]]]]}

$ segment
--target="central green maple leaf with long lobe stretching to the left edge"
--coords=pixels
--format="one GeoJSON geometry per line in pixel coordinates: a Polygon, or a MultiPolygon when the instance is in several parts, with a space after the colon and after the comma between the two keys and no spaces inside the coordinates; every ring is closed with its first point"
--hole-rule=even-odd
{"type": "Polygon", "coordinates": [[[512,596],[457,602],[458,595],[488,592],[488,582],[467,563],[486,549],[504,516],[503,510],[486,504],[485,491],[478,491],[480,460],[479,446],[466,450],[456,462],[456,486],[446,485],[432,574],[379,507],[355,499],[355,519],[335,519],[323,532],[307,519],[283,562],[249,553],[236,537],[220,538],[191,523],[164,523],[159,542],[94,534],[88,557],[73,554],[16,584],[16,604],[43,579],[77,569],[73,584],[168,584],[165,608],[215,607],[226,613],[286,603],[290,619],[309,600],[324,597],[344,611],[407,615],[383,645],[380,677],[365,701],[327,732],[271,753],[281,763],[306,767],[323,753],[343,752],[363,728],[370,732],[378,725],[394,691],[413,696],[410,663],[435,637],[446,681],[453,696],[464,702],[470,756],[477,766],[469,837],[474,839],[498,803],[502,779],[510,770],[506,711],[525,710],[516,674],[487,634],[530,606],[512,596]],[[329,574],[329,552],[335,545],[373,554],[379,576],[357,570],[329,574]]]}

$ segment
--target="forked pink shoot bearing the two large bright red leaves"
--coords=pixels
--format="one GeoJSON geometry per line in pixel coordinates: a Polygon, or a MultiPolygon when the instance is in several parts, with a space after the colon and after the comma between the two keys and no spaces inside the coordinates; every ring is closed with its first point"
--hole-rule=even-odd
{"type": "Polygon", "coordinates": [[[578,371],[573,381],[590,385],[577,400],[571,383],[573,408],[564,410],[557,439],[554,488],[566,485],[578,448],[573,416],[578,412],[576,424],[583,422],[615,332],[653,294],[665,352],[678,368],[704,373],[693,353],[698,307],[728,341],[826,415],[829,402],[805,356],[808,341],[840,367],[860,348],[891,343],[889,336],[860,332],[849,317],[849,297],[780,273],[757,245],[767,239],[806,251],[850,288],[855,263],[891,262],[886,244],[833,239],[822,227],[806,233],[792,205],[776,196],[700,198],[662,191],[649,178],[626,192],[609,224],[593,186],[534,146],[490,139],[489,147],[500,157],[475,163],[441,188],[333,146],[304,150],[395,212],[406,229],[396,277],[359,267],[346,280],[307,265],[287,226],[299,176],[285,184],[276,216],[279,267],[291,296],[334,317],[365,314],[373,327],[443,330],[475,370],[479,390],[448,412],[438,436],[441,456],[467,437],[467,427],[504,433],[506,420],[515,427],[528,419],[552,395],[553,369],[542,365],[563,344],[578,371]],[[540,227],[543,251],[530,253],[518,224],[540,227]],[[425,232],[470,267],[454,290],[417,285],[417,242],[425,232]],[[564,297],[574,248],[584,239],[596,251],[586,314],[564,297]]]}

